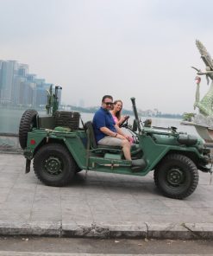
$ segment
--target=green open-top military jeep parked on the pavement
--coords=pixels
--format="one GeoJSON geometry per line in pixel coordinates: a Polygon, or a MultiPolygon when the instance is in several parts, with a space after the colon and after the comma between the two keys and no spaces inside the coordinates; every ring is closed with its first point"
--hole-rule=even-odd
{"type": "Polygon", "coordinates": [[[47,116],[35,110],[23,113],[19,140],[26,158],[26,173],[34,159],[34,173],[48,186],[65,186],[81,171],[101,171],[153,180],[163,195],[184,199],[197,188],[198,170],[211,172],[210,150],[202,139],[177,128],[154,127],[138,117],[135,98],[131,98],[135,119],[122,124],[135,139],[131,147],[133,161],[125,160],[122,149],[97,145],[91,121],[79,127],[80,113],[59,111],[58,90],[48,95],[47,116]],[[141,159],[140,166],[134,160],[141,159]]]}

